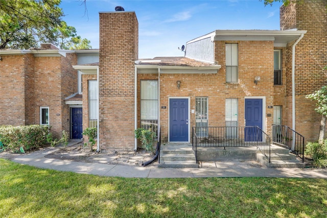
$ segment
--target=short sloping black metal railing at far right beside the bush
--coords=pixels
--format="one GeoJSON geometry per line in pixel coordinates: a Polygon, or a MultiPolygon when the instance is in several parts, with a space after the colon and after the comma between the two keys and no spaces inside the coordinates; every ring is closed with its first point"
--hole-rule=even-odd
{"type": "Polygon", "coordinates": [[[288,126],[272,125],[272,143],[291,150],[304,162],[305,137],[288,126]]]}

